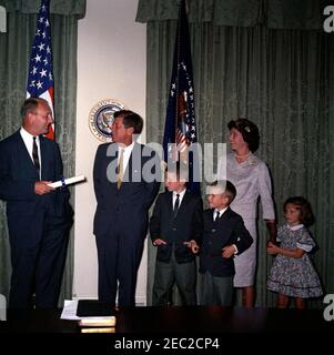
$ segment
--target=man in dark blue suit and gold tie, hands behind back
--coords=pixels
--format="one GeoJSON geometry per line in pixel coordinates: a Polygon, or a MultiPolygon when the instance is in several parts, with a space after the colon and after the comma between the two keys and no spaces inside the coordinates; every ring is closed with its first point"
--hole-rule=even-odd
{"type": "Polygon", "coordinates": [[[160,186],[158,155],[134,140],[142,128],[139,114],[129,110],[115,112],[113,143],[101,144],[94,161],[99,300],[112,305],[118,291],[119,305],[135,304],[148,211],[160,186]]]}

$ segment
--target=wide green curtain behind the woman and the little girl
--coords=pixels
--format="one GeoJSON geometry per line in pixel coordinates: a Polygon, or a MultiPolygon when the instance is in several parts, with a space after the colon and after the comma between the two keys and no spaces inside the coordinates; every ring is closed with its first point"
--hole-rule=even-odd
{"type": "MultiPolygon", "coordinates": [[[[316,216],[311,231],[320,247],[313,258],[325,293],[334,293],[334,37],[324,33],[321,22],[310,17],[312,13],[313,19],[320,19],[320,11],[310,12],[315,2],[321,10],[318,1],[291,1],[295,8],[290,9],[287,1],[247,1],[247,19],[243,8],[237,8],[245,6],[244,1],[189,1],[190,37],[200,143],[227,142],[231,119],[247,116],[259,125],[257,154],[272,174],[277,221],[283,223],[282,204],[289,196],[310,200],[316,216]],[[222,9],[230,4],[232,18],[224,14],[229,24],[240,13],[235,24],[225,26],[227,20],[212,11],[219,3],[222,9]],[[297,6],[303,11],[295,11],[293,17],[297,6]]],[[[178,1],[151,4],[140,0],[136,19],[148,22],[148,142],[162,142],[178,1]]],[[[204,187],[203,183],[203,192],[204,187]]],[[[272,264],[272,256],[265,253],[266,240],[260,217],[257,306],[273,306],[275,301],[266,291],[272,264]]],[[[149,304],[154,257],[149,243],[149,304]]],[[[308,304],[320,307],[322,303],[308,304]]]]}

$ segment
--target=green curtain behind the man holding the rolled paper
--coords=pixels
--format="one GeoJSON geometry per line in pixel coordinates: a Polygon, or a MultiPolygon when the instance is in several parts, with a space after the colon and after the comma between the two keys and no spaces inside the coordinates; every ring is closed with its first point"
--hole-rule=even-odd
{"type": "MultiPolygon", "coordinates": [[[[12,134],[21,124],[20,106],[26,99],[27,71],[39,3],[40,1],[0,0],[0,4],[7,6],[8,11],[7,32],[0,33],[0,140],[12,134]]],[[[72,176],[75,171],[78,19],[84,16],[84,11],[85,1],[82,0],[51,1],[55,135],[62,153],[64,176],[72,176]],[[60,7],[61,3],[62,7],[60,7]],[[61,11],[52,11],[57,6],[61,11]]],[[[72,205],[73,193],[72,190],[72,205]]],[[[0,201],[0,293],[6,296],[9,294],[10,274],[6,204],[0,201]]],[[[73,229],[70,235],[60,304],[65,297],[72,296],[72,275],[73,229]]]]}

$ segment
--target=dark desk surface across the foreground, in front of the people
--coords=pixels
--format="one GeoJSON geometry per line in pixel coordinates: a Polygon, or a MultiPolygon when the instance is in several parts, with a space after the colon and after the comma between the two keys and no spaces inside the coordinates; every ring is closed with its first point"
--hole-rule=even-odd
{"type": "MultiPolygon", "coordinates": [[[[8,311],[0,333],[80,333],[74,321],[60,320],[61,310],[8,311]]],[[[121,307],[117,334],[334,333],[322,310],[232,307],[121,307]]]]}

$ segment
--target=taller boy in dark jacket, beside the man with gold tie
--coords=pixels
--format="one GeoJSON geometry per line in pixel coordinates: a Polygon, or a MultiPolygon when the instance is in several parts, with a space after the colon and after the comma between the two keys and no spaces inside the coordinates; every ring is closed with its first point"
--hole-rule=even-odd
{"type": "Polygon", "coordinates": [[[158,247],[152,304],[168,305],[174,282],[183,305],[196,304],[196,250],[202,235],[202,200],[186,190],[185,170],[178,164],[165,174],[168,192],[161,193],[150,220],[158,247]]]}

